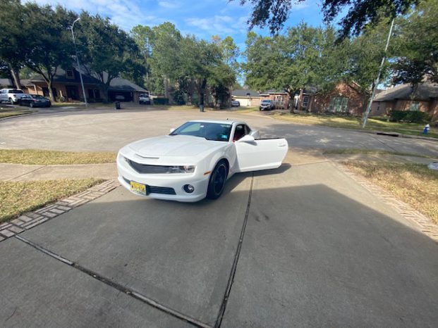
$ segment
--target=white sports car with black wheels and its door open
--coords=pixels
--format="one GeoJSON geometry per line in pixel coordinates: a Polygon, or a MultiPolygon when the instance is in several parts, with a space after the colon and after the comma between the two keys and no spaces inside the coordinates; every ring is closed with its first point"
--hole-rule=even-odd
{"type": "Polygon", "coordinates": [[[118,151],[118,181],[141,196],[216,199],[234,173],[279,168],[288,142],[259,138],[245,122],[186,122],[169,135],[135,141],[118,151]]]}

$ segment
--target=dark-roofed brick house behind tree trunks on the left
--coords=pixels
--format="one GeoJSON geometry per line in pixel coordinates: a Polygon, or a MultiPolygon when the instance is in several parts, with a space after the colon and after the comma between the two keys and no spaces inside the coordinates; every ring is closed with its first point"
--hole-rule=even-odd
{"type": "MultiPolygon", "coordinates": [[[[95,77],[82,72],[85,96],[87,101],[98,102],[102,101],[102,87],[95,77]]],[[[22,81],[23,91],[29,94],[40,94],[49,96],[47,83],[41,75],[36,75],[29,80],[22,81]],[[24,83],[23,83],[24,82],[24,83]]],[[[65,101],[83,101],[82,86],[80,84],[80,76],[78,70],[71,68],[63,70],[58,68],[54,76],[52,91],[56,99],[63,98],[65,101]]],[[[108,99],[111,101],[135,101],[138,102],[138,96],[146,92],[146,89],[138,86],[121,77],[116,77],[111,80],[108,90],[108,99]]]]}

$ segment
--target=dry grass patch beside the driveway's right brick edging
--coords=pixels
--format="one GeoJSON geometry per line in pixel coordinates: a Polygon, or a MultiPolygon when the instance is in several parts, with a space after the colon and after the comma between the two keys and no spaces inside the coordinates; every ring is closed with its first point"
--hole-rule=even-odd
{"type": "Polygon", "coordinates": [[[344,164],[438,224],[438,171],[430,170],[427,165],[421,164],[344,164]]]}

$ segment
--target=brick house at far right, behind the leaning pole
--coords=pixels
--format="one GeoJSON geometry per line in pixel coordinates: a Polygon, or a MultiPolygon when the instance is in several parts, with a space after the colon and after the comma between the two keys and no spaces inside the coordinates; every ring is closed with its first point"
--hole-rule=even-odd
{"type": "Polygon", "coordinates": [[[377,94],[370,115],[388,115],[391,111],[422,111],[438,120],[438,84],[418,84],[415,91],[411,84],[400,84],[377,94]]]}

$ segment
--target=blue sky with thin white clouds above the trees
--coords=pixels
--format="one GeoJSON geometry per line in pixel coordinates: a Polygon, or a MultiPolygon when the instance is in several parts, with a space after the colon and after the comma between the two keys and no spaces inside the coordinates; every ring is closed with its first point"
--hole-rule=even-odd
{"type": "MultiPolygon", "coordinates": [[[[27,0],[25,0],[27,1],[27,0]]],[[[35,0],[34,0],[35,1],[35,0]]],[[[194,34],[201,39],[210,39],[219,34],[221,38],[231,36],[244,50],[248,32],[247,21],[251,5],[240,5],[239,0],[36,0],[38,4],[61,4],[80,13],[109,17],[113,23],[127,32],[135,25],[154,26],[166,21],[174,23],[183,34],[194,34]]],[[[300,22],[312,26],[322,25],[319,0],[305,0],[295,4],[286,26],[300,22]]],[[[258,34],[269,34],[269,29],[256,28],[258,34]]]]}

